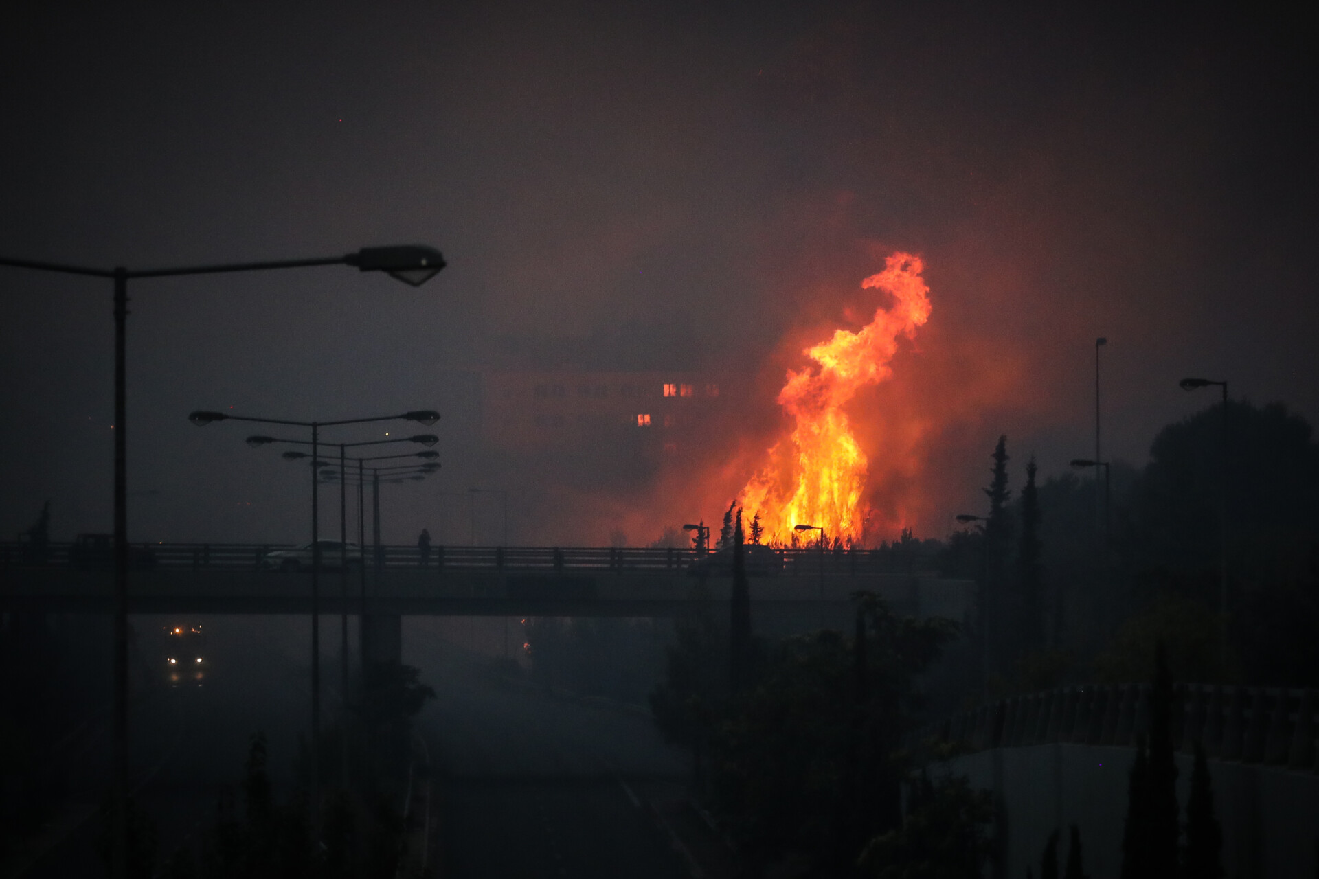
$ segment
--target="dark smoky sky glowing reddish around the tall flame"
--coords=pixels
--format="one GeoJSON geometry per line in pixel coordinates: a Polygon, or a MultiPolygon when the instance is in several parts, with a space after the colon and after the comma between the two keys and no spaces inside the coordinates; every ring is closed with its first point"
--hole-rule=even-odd
{"type": "MultiPolygon", "coordinates": [[[[777,369],[897,249],[934,303],[898,366],[931,398],[984,385],[935,406],[966,474],[939,490],[971,505],[1001,432],[1045,473],[1092,453],[1100,335],[1105,455],[1207,405],[1191,373],[1319,416],[1314,37],[1261,7],[32,4],[0,30],[0,253],[450,261],[418,291],[136,282],[133,539],[305,530],[297,473],[193,409],[443,409],[446,370],[561,339],[777,369]]],[[[108,530],[109,285],[0,290],[0,527],[50,498],[57,536],[108,530]]],[[[489,478],[442,427],[445,477],[401,486],[386,539],[489,478]]]]}

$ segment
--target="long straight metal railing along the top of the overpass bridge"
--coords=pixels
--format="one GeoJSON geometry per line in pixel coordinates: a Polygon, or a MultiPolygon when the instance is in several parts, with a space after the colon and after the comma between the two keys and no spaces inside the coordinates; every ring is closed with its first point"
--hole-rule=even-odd
{"type": "MultiPolygon", "coordinates": [[[[108,568],[108,547],[74,543],[32,544],[0,542],[0,567],[82,567],[108,568]]],[[[302,544],[298,544],[302,546],[302,544]]],[[[133,568],[261,568],[261,560],[273,550],[290,550],[288,543],[133,543],[133,568]]],[[[751,573],[797,576],[865,576],[878,573],[929,573],[930,557],[900,550],[836,550],[823,555],[811,548],[774,548],[776,561],[766,565],[757,559],[751,573]]],[[[702,556],[679,547],[470,547],[431,546],[423,559],[415,546],[367,547],[365,561],[388,569],[429,567],[443,568],[516,568],[524,571],[612,571],[671,573],[686,571],[702,556]]],[[[336,553],[324,557],[326,567],[336,564],[336,553]]],[[[352,559],[350,559],[350,563],[352,559]]],[[[714,560],[712,560],[714,561],[714,560]]],[[[712,565],[711,573],[728,573],[712,565]]]]}

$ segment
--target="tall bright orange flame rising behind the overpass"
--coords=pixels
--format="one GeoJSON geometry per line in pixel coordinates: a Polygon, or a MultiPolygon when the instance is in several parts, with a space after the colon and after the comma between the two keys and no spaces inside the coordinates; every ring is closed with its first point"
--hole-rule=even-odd
{"type": "MultiPolygon", "coordinates": [[[[898,337],[913,339],[929,320],[923,269],[910,253],[888,257],[884,270],[865,278],[861,287],[890,293],[893,307],[877,307],[874,319],[857,332],[838,329],[828,341],[805,349],[816,366],[787,370],[778,405],[793,418],[791,448],[777,441],[768,452],[769,463],[739,496],[748,517],[760,514],[770,542],[786,543],[797,525],[822,527],[830,542],[861,542],[859,507],[869,461],[852,435],[845,406],[863,386],[893,374],[889,361],[898,337]]],[[[810,536],[818,539],[818,534],[810,536]]]]}

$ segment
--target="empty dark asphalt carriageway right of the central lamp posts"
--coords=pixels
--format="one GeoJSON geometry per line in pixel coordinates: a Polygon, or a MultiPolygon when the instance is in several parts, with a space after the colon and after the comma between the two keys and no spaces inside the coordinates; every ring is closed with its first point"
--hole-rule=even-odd
{"type": "Polygon", "coordinates": [[[418,727],[438,768],[441,875],[689,876],[649,805],[686,770],[649,717],[503,680],[425,619],[404,643],[437,691],[418,727]]]}

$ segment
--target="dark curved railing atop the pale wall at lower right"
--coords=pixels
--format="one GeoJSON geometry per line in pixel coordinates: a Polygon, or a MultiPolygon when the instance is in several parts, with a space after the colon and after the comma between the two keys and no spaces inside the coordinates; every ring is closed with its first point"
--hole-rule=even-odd
{"type": "MultiPolygon", "coordinates": [[[[1149,729],[1149,684],[1063,687],[1012,696],[913,731],[906,745],[931,742],[969,751],[1071,742],[1133,747],[1149,729]]],[[[1177,684],[1173,742],[1191,752],[1319,772],[1319,692],[1278,687],[1177,684]]]]}

